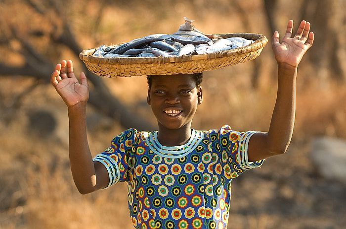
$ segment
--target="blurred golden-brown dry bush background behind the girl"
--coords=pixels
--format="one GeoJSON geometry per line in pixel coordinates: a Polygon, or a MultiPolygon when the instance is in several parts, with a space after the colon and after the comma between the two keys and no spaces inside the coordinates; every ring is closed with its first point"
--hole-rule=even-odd
{"type": "Polygon", "coordinates": [[[0,229],[131,229],[127,184],[81,195],[68,159],[67,107],[49,84],[72,60],[87,73],[93,156],[130,127],[155,130],[145,76],[88,72],[83,49],[174,33],[194,19],[204,33],[261,33],[254,61],[204,73],[193,128],[268,131],[277,90],[271,36],[304,19],[315,33],[299,65],[288,152],[233,181],[228,228],[346,228],[345,0],[0,0],[0,229]],[[338,164],[339,163],[339,164],[338,164]]]}

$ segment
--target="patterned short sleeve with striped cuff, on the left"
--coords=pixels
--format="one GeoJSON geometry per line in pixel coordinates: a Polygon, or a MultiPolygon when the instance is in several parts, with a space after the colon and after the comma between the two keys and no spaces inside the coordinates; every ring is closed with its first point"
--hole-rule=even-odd
{"type": "Polygon", "coordinates": [[[109,184],[106,188],[119,181],[128,181],[129,162],[134,156],[136,130],[129,129],[114,137],[111,146],[96,155],[94,162],[103,164],[109,175],[109,184]]]}

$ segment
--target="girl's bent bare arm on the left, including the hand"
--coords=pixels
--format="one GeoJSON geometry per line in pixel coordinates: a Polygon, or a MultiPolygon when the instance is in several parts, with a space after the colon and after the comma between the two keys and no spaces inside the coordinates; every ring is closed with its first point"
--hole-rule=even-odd
{"type": "Polygon", "coordinates": [[[81,82],[73,72],[72,61],[61,61],[51,74],[51,84],[68,107],[69,157],[73,180],[81,194],[106,187],[109,182],[104,166],[92,162],[87,142],[86,104],[89,98],[87,77],[82,72],[81,82]]]}

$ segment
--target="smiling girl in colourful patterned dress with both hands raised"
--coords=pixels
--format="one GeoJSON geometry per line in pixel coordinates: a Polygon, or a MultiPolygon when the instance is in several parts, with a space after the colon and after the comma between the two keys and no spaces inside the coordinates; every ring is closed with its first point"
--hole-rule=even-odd
{"type": "Polygon", "coordinates": [[[285,153],[293,132],[297,67],[314,39],[302,21],[293,21],[272,49],[278,64],[277,99],[268,132],[191,129],[202,97],[202,74],[148,76],[147,102],[159,131],[129,129],[92,159],[87,143],[88,84],[73,73],[72,61],[56,65],[51,83],[68,106],[69,155],[81,194],[128,182],[130,218],[138,229],[227,228],[231,181],[263,160],[285,153]]]}

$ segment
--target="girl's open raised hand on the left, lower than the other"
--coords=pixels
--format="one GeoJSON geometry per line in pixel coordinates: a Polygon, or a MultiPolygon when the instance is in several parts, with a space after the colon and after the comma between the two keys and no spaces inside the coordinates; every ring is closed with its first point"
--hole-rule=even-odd
{"type": "Polygon", "coordinates": [[[51,74],[50,81],[68,107],[85,105],[89,98],[89,85],[84,72],[80,73],[81,83],[73,73],[72,61],[62,60],[51,74]]]}

